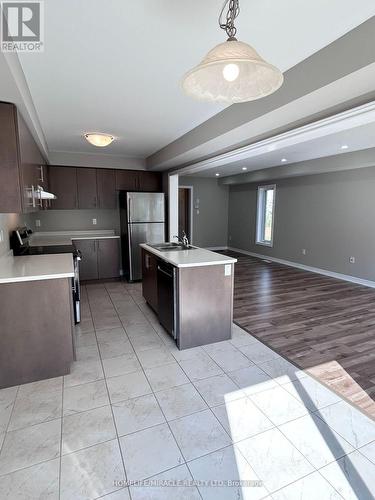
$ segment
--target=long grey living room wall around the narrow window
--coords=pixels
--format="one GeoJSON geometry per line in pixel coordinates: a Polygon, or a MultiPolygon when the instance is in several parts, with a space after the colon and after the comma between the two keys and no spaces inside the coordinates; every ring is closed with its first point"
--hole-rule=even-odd
{"type": "Polygon", "coordinates": [[[259,183],[230,187],[229,246],[375,280],[375,167],[275,184],[273,248],[255,244],[259,183]]]}

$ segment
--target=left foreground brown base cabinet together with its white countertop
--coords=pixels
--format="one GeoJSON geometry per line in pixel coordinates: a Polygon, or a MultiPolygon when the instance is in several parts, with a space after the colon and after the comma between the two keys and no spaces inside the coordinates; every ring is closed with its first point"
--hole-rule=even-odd
{"type": "Polygon", "coordinates": [[[72,254],[0,258],[0,389],[70,372],[73,277],[72,254]]]}

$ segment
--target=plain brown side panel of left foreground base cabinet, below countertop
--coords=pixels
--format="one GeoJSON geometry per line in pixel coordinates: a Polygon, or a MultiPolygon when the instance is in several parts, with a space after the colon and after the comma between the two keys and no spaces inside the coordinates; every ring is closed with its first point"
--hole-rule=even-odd
{"type": "Polygon", "coordinates": [[[0,304],[0,389],[68,374],[71,279],[1,284],[0,304]]]}

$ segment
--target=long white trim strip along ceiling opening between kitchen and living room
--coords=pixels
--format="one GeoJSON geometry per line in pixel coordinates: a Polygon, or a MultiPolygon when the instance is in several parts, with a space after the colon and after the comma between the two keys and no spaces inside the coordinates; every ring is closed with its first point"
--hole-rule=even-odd
{"type": "MultiPolygon", "coordinates": [[[[276,151],[295,144],[325,137],[343,130],[350,130],[354,127],[372,123],[374,121],[375,101],[371,101],[367,104],[363,104],[362,106],[357,106],[356,108],[337,113],[336,115],[329,116],[328,118],[317,120],[302,127],[289,130],[288,132],[269,137],[263,141],[258,141],[227,153],[199,161],[187,167],[180,168],[176,172],[180,175],[202,172],[204,170],[228,165],[240,160],[254,158],[256,156],[269,153],[270,151],[276,151]]],[[[270,167],[272,166],[274,165],[270,165],[270,167]]]]}

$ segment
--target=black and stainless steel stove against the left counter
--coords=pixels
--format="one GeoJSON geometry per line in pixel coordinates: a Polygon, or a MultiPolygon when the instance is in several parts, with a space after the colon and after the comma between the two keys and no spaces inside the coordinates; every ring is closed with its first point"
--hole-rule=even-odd
{"type": "Polygon", "coordinates": [[[72,296],[73,296],[73,312],[74,321],[81,321],[81,290],[79,285],[79,262],[82,259],[81,252],[77,250],[73,243],[71,245],[43,245],[30,246],[31,229],[20,227],[13,231],[10,237],[10,247],[15,256],[18,255],[43,255],[54,253],[71,253],[73,255],[74,277],[72,278],[72,296]]]}

